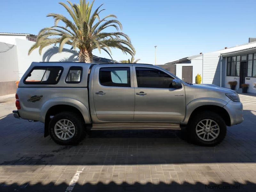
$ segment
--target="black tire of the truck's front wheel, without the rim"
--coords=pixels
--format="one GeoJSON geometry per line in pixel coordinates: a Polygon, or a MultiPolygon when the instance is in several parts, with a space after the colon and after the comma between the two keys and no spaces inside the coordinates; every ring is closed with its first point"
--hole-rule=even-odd
{"type": "Polygon", "coordinates": [[[227,126],[226,126],[225,121],[223,120],[223,118],[220,115],[218,115],[217,113],[214,113],[212,111],[203,111],[203,112],[196,114],[195,116],[192,116],[191,118],[192,119],[189,120],[189,124],[188,124],[187,128],[190,133],[190,139],[192,140],[192,142],[194,142],[197,145],[201,145],[201,146],[216,146],[222,140],[224,140],[226,133],[227,133],[227,126]],[[212,141],[202,140],[196,134],[197,124],[204,119],[211,119],[211,120],[215,121],[220,128],[219,135],[217,136],[217,138],[215,138],[212,141]]]}

